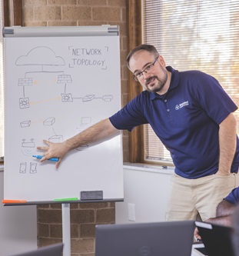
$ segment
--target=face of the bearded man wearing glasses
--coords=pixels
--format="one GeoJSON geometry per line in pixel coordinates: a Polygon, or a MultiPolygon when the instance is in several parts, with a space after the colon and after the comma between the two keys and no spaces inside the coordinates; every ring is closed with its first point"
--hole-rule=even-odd
{"type": "Polygon", "coordinates": [[[168,72],[165,68],[164,58],[161,55],[156,59],[154,55],[147,51],[135,52],[129,65],[132,73],[138,78],[145,90],[150,92],[162,91],[168,80],[168,72]]]}

